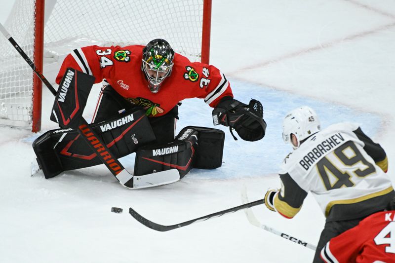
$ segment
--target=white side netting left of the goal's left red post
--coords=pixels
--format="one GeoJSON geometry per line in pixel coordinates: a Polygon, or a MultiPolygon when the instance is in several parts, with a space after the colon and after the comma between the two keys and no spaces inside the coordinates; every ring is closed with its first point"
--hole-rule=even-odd
{"type": "MultiPolygon", "coordinates": [[[[4,27],[33,58],[33,3],[16,1],[4,27]],[[13,22],[13,17],[19,17],[13,22]]],[[[0,35],[0,123],[29,127],[32,119],[33,71],[6,38],[0,35]]]]}

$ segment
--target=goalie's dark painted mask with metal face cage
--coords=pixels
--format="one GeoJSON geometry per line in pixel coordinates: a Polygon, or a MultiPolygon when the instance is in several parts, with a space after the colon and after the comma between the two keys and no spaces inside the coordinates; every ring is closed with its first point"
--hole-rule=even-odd
{"type": "Polygon", "coordinates": [[[163,80],[170,75],[173,67],[174,51],[164,39],[151,40],[143,49],[141,66],[151,92],[157,93],[163,80]]]}

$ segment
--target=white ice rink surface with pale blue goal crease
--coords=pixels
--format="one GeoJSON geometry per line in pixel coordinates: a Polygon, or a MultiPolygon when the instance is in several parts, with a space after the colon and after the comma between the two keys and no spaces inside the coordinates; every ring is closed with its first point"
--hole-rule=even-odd
{"type": "MultiPolygon", "coordinates": [[[[226,133],[221,168],[128,190],[103,165],[50,180],[30,177],[38,135],[0,128],[1,263],[311,262],[313,251],[250,225],[242,212],[164,233],[127,213],[131,206],[172,225],[239,205],[243,186],[250,201],[263,198],[279,186],[276,171],[290,150],[281,140],[282,118],[301,105],[315,108],[323,127],[359,123],[387,151],[394,178],[394,1],[213,1],[211,34],[210,62],[228,76],[235,98],[263,103],[265,138],[234,141],[219,127],[226,133]]],[[[98,92],[94,87],[87,119],[98,92]]],[[[43,97],[46,131],[56,125],[49,121],[52,95],[44,90],[43,97]]],[[[177,131],[187,125],[213,127],[211,109],[185,100],[177,131]]],[[[132,169],[134,155],[121,162],[132,169]]],[[[310,195],[291,221],[264,206],[253,211],[263,224],[313,244],[324,224],[310,195]]]]}

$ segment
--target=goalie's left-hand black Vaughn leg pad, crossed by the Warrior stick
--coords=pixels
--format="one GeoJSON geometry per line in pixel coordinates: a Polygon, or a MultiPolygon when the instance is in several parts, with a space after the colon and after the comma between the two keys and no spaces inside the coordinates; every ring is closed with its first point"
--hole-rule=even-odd
{"type": "MultiPolygon", "coordinates": [[[[117,157],[135,152],[155,141],[148,117],[142,110],[130,110],[116,119],[89,125],[117,157]]],[[[33,142],[33,149],[45,178],[67,170],[101,164],[96,153],[73,129],[51,130],[33,142]]]]}

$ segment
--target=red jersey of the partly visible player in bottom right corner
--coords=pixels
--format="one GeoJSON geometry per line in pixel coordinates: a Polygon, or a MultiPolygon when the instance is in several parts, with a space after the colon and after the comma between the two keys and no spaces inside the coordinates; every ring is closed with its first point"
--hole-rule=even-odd
{"type": "Polygon", "coordinates": [[[332,238],[321,251],[326,263],[395,263],[395,211],[375,213],[332,238]]]}

